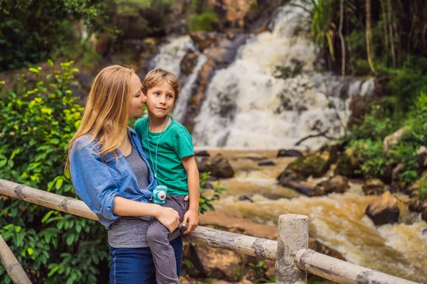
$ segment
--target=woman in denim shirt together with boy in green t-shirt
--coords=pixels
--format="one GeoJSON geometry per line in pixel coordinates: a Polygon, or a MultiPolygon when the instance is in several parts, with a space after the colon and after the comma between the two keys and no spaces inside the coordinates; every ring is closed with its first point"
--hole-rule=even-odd
{"type": "Polygon", "coordinates": [[[169,70],[141,82],[131,68],[105,67],[69,143],[65,171],[107,228],[110,283],[179,283],[181,232],[196,229],[200,195],[191,136],[169,116],[179,92],[169,70]],[[128,128],[144,104],[148,117],[128,128]],[[165,203],[152,202],[164,186],[165,203]]]}

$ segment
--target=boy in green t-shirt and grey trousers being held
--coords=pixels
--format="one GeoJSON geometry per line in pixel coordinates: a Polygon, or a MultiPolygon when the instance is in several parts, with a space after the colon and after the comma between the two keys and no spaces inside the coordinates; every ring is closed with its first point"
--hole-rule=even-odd
{"type": "MultiPolygon", "coordinates": [[[[142,92],[147,96],[148,118],[139,119],[135,131],[141,138],[154,178],[167,187],[164,206],[178,212],[182,226],[189,222],[184,231],[187,234],[199,223],[199,170],[189,131],[169,116],[179,98],[179,82],[169,70],[152,70],[144,77],[142,92]],[[189,202],[184,200],[186,195],[189,202]]],[[[168,229],[157,219],[150,220],[147,241],[156,266],[157,283],[179,283],[168,235],[168,229]]]]}

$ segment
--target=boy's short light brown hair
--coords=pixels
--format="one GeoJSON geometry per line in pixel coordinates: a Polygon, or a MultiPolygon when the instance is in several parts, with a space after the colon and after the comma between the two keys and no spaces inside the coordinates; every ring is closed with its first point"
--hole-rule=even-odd
{"type": "Polygon", "coordinates": [[[147,75],[145,75],[144,80],[142,81],[142,92],[144,94],[147,94],[147,91],[151,89],[154,86],[157,86],[161,82],[166,81],[168,82],[172,89],[174,89],[175,92],[175,102],[177,99],[179,99],[179,93],[181,92],[181,85],[179,84],[178,79],[176,79],[174,73],[172,73],[170,70],[164,69],[164,68],[157,68],[154,70],[151,70],[148,72],[147,75]]]}

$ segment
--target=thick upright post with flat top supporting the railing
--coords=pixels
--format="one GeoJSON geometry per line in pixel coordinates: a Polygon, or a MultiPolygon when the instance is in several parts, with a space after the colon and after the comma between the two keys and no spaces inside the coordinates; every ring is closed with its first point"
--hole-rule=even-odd
{"type": "Polygon", "coordinates": [[[277,284],[307,282],[307,273],[295,265],[295,253],[308,249],[308,217],[280,215],[278,223],[278,256],[275,262],[277,284]]]}

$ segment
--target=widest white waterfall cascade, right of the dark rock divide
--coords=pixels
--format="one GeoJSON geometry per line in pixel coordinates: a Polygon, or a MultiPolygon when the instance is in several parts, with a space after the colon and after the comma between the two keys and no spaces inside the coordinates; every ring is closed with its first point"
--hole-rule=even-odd
{"type": "MultiPolygon", "coordinates": [[[[272,32],[253,36],[231,65],[216,71],[196,118],[196,146],[290,148],[308,135],[342,133],[351,94],[362,82],[315,72],[315,45],[295,36],[304,16],[302,9],[284,6],[272,32]]],[[[302,146],[319,148],[323,141],[312,138],[302,146]]]]}

